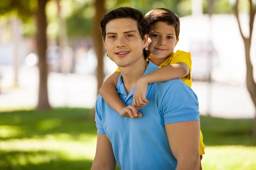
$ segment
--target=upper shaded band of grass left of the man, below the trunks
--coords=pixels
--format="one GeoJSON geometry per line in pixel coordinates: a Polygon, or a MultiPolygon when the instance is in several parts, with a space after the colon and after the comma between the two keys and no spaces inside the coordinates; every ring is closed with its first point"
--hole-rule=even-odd
{"type": "Polygon", "coordinates": [[[80,134],[97,134],[90,109],[80,108],[55,108],[49,112],[0,112],[0,130],[5,132],[0,134],[2,141],[60,133],[74,138],[80,134]]]}

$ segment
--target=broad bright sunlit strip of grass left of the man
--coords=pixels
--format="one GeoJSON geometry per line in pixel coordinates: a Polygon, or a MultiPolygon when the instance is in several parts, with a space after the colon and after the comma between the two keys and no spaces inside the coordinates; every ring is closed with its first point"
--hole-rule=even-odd
{"type": "Polygon", "coordinates": [[[60,140],[60,136],[47,135],[42,139],[10,139],[0,142],[0,150],[4,151],[50,151],[61,153],[64,159],[90,159],[92,160],[96,151],[96,136],[82,135],[87,141],[66,141],[60,140]]]}

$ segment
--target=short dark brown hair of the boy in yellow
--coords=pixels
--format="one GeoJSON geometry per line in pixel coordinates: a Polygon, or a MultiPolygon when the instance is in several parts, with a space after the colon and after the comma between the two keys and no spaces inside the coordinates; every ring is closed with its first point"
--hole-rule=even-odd
{"type": "Polygon", "coordinates": [[[176,38],[179,38],[180,34],[180,19],[172,11],[166,8],[157,8],[149,11],[145,15],[145,19],[148,21],[150,26],[153,26],[155,23],[161,21],[166,23],[169,26],[174,26],[176,38]]]}

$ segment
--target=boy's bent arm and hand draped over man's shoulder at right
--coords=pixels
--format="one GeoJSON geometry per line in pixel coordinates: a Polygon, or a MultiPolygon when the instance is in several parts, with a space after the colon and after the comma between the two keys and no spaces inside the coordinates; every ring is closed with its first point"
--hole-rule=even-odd
{"type": "Polygon", "coordinates": [[[146,99],[148,84],[165,82],[175,78],[181,79],[188,74],[189,67],[183,62],[178,62],[177,64],[163,66],[160,69],[141,77],[138,79],[134,90],[134,105],[136,107],[144,107],[148,104],[148,100],[146,99]]]}

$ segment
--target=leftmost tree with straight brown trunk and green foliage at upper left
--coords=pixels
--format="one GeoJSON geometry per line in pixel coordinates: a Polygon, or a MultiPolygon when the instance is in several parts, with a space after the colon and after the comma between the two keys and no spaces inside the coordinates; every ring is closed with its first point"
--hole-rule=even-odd
{"type": "Polygon", "coordinates": [[[0,6],[0,15],[17,14],[23,22],[29,20],[35,14],[37,26],[37,52],[39,57],[39,95],[37,110],[49,110],[51,107],[48,101],[47,88],[47,62],[46,49],[47,19],[45,7],[48,0],[6,0],[0,6]]]}

